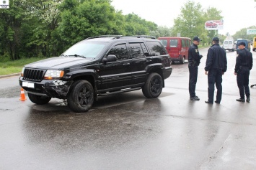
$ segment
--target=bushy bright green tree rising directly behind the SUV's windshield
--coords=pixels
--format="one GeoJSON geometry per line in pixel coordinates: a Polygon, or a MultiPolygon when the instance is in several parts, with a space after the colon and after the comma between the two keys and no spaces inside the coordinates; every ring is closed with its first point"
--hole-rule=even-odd
{"type": "Polygon", "coordinates": [[[66,47],[86,39],[102,34],[122,34],[123,16],[107,0],[87,0],[81,4],[67,3],[61,5],[61,23],[58,33],[66,47]],[[71,6],[71,9],[69,8],[71,6]]]}

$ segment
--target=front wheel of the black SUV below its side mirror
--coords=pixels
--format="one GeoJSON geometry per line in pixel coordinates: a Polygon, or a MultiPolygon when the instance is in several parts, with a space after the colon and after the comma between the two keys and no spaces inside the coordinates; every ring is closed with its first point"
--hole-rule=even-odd
{"type": "Polygon", "coordinates": [[[74,112],[87,112],[94,103],[94,89],[87,80],[74,82],[67,97],[68,105],[74,112]]]}

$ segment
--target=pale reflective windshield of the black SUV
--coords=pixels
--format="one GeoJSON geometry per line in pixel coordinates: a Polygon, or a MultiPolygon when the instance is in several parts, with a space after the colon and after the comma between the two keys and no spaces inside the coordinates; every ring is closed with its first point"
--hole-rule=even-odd
{"type": "Polygon", "coordinates": [[[95,58],[106,44],[99,42],[79,42],[66,50],[63,56],[95,58]]]}

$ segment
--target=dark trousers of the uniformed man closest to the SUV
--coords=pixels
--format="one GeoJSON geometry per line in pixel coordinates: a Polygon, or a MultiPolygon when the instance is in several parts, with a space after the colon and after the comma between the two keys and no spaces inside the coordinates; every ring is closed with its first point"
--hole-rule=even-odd
{"type": "Polygon", "coordinates": [[[190,71],[188,90],[190,92],[190,97],[195,97],[195,85],[198,81],[198,66],[188,66],[188,70],[190,71]]]}

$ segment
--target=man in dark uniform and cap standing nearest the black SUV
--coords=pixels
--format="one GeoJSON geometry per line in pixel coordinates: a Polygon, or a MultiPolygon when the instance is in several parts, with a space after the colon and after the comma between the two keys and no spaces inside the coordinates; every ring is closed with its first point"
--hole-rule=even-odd
{"type": "Polygon", "coordinates": [[[189,80],[189,92],[190,100],[200,100],[198,96],[195,95],[195,85],[198,80],[198,65],[200,64],[200,59],[203,57],[199,54],[198,44],[200,43],[199,37],[193,38],[193,44],[191,44],[188,49],[188,69],[190,72],[189,80]]]}

